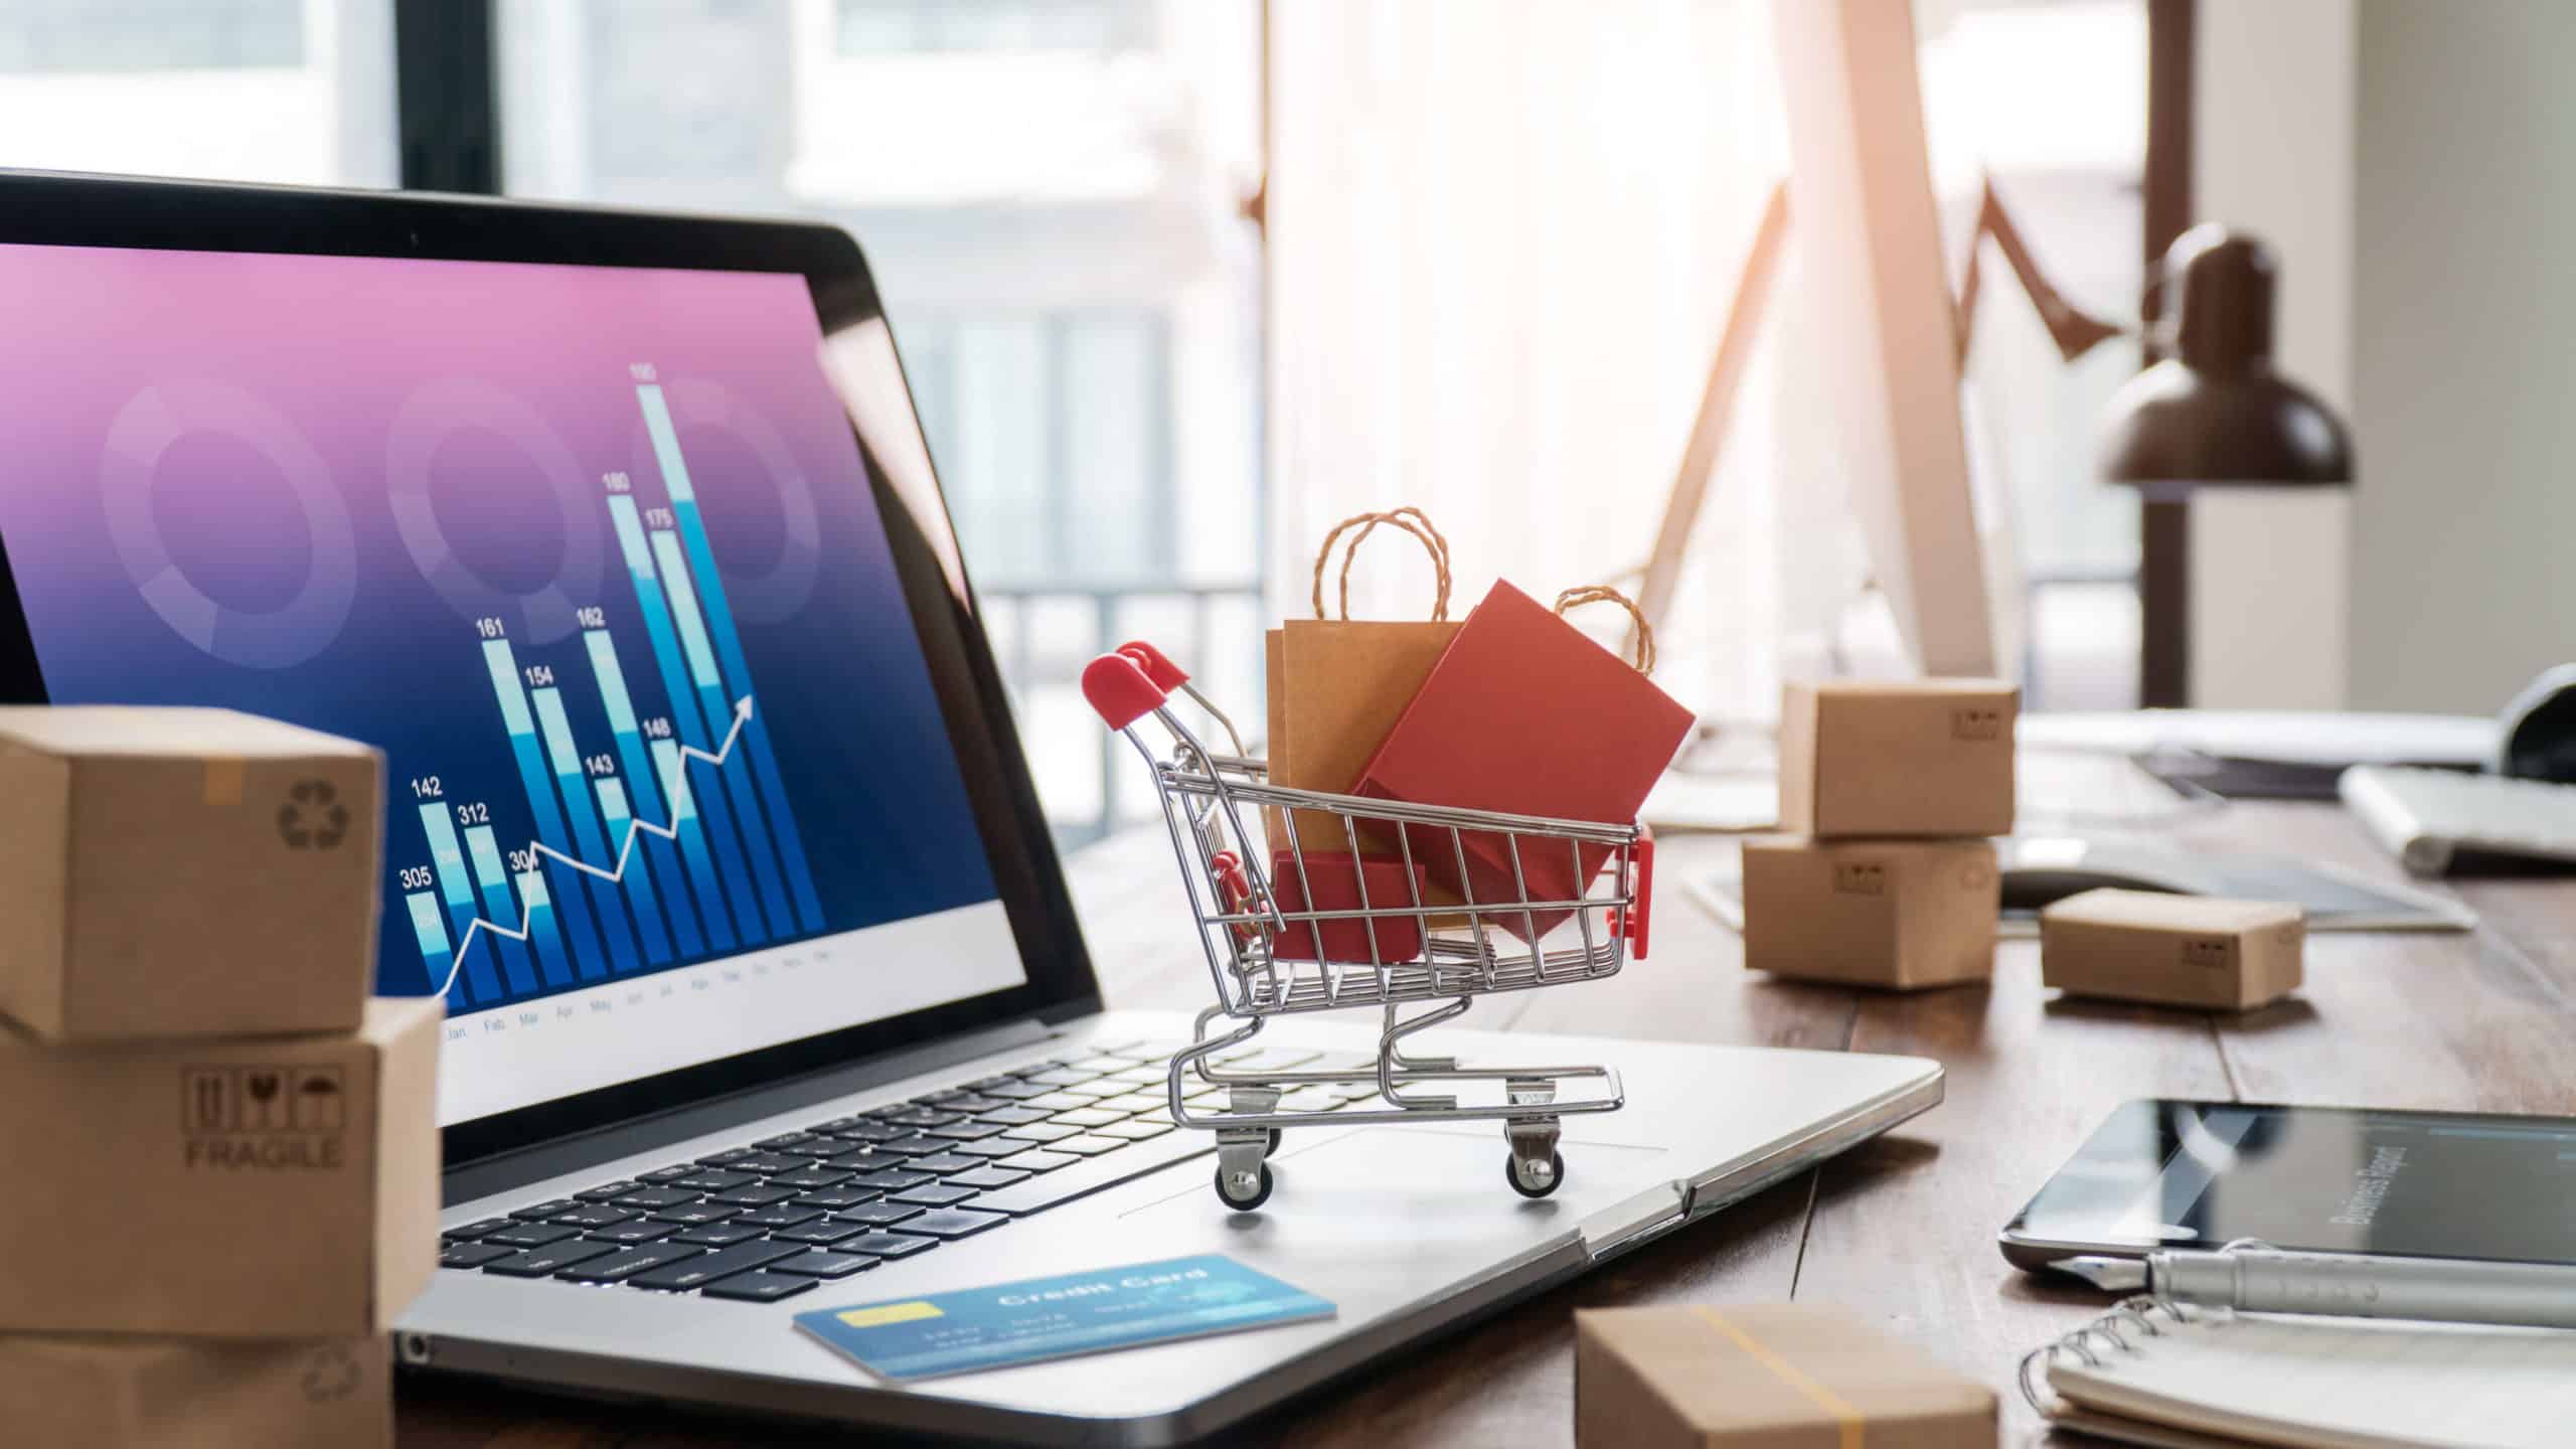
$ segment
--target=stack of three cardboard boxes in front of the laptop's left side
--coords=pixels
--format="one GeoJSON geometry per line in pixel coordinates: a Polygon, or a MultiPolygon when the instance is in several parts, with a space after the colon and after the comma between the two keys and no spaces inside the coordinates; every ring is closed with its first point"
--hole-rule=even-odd
{"type": "Polygon", "coordinates": [[[368,1000],[384,761],[0,709],[0,1439],[392,1444],[443,1006],[368,1000]]]}

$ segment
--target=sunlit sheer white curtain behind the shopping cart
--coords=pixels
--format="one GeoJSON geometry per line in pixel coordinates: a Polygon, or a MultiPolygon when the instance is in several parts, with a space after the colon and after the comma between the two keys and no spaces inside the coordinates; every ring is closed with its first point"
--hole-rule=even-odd
{"type": "MultiPolygon", "coordinates": [[[[1306,611],[1324,531],[1399,503],[1453,544],[1453,614],[1494,578],[1553,598],[1636,570],[1783,168],[1765,5],[1270,15],[1273,603],[1306,611]]],[[[1793,317],[1795,284],[1767,330],[1793,317]]],[[[1826,557],[1850,552],[1839,498],[1775,487],[1795,467],[1783,389],[1829,387],[1777,376],[1777,351],[1739,400],[1662,634],[1659,683],[1728,714],[1770,709],[1783,639],[1847,603],[1857,567],[1826,557]]],[[[1368,549],[1352,614],[1422,616],[1417,549],[1383,531],[1368,549]]]]}

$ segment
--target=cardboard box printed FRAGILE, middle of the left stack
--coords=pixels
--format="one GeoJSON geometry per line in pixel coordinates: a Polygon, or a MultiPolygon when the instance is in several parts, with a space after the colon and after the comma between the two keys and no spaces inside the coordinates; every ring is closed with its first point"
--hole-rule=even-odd
{"type": "Polygon", "coordinates": [[[361,1338],[438,1258],[440,998],[350,1036],[0,1026],[0,1333],[361,1338]]]}

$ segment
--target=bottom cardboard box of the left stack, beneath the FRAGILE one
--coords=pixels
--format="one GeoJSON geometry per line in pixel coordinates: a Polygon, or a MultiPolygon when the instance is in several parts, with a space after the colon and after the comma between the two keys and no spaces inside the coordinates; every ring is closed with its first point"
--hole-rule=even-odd
{"type": "Polygon", "coordinates": [[[113,1449],[394,1444],[384,1338],[0,1336],[0,1439],[113,1449]]]}

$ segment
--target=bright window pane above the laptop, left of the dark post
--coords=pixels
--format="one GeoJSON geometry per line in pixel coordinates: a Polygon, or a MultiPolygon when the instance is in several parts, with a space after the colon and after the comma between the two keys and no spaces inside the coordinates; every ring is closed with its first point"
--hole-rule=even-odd
{"type": "Polygon", "coordinates": [[[392,0],[0,0],[0,165],[394,186],[392,0]]]}

